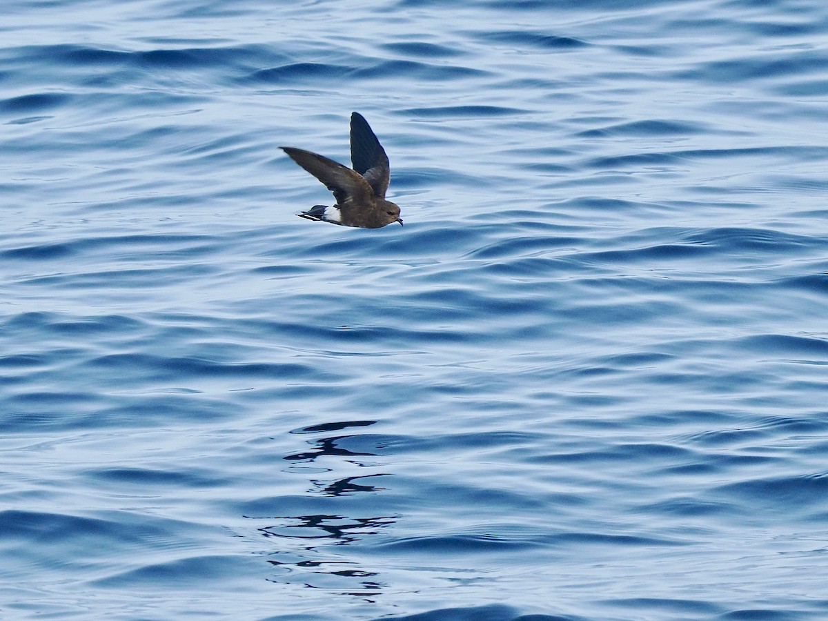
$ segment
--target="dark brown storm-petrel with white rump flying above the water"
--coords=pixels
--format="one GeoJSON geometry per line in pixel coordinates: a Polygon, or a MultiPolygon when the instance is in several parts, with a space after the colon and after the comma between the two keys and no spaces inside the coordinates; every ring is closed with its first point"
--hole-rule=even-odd
{"type": "Polygon", "coordinates": [[[400,208],[390,200],[385,200],[385,190],[388,190],[388,181],[391,179],[388,156],[362,114],[351,114],[353,170],[338,161],[304,149],[279,148],[324,183],[336,199],[336,205],[332,207],[315,205],[296,214],[299,217],[363,229],[379,229],[392,222],[402,225],[400,208]]]}

